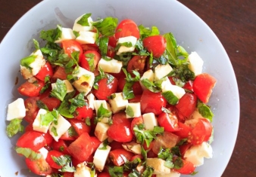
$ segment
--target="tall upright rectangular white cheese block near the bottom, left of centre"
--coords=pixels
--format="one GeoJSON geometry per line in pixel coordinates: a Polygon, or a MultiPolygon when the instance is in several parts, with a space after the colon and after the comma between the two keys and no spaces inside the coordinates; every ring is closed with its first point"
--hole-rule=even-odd
{"type": "Polygon", "coordinates": [[[105,163],[108,159],[108,154],[111,151],[111,147],[109,145],[106,146],[106,148],[103,148],[104,144],[101,143],[97,150],[95,151],[94,157],[93,157],[93,163],[95,165],[95,169],[98,169],[98,171],[102,171],[104,169],[105,163]]]}

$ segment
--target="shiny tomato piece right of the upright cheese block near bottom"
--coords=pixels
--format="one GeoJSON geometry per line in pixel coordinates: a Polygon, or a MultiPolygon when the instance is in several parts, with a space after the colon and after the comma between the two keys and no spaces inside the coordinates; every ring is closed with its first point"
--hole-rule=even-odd
{"type": "Polygon", "coordinates": [[[109,158],[116,166],[123,165],[127,160],[130,160],[134,154],[130,151],[126,151],[123,148],[115,149],[109,152],[109,158]]]}

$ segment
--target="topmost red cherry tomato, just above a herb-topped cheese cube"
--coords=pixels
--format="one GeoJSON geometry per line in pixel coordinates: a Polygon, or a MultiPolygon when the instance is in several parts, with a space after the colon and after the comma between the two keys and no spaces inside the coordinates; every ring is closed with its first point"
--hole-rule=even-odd
{"type": "Polygon", "coordinates": [[[134,36],[139,39],[139,29],[136,23],[133,20],[122,20],[116,29],[115,38],[123,38],[127,36],[134,36]]]}

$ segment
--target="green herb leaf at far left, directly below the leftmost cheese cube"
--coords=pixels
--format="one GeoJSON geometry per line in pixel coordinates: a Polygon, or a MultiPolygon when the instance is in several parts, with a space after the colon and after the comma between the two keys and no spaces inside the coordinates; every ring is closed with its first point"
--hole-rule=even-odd
{"type": "Polygon", "coordinates": [[[22,133],[24,130],[23,125],[21,125],[22,119],[14,118],[10,121],[10,124],[6,127],[6,133],[9,138],[16,135],[18,132],[22,133]]]}

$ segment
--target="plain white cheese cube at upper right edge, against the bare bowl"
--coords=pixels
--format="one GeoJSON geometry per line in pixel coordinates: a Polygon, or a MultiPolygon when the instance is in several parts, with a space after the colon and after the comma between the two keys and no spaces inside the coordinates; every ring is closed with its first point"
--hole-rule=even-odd
{"type": "Polygon", "coordinates": [[[196,75],[200,75],[203,70],[204,61],[201,60],[201,57],[196,52],[192,52],[188,57],[189,69],[196,75]]]}

